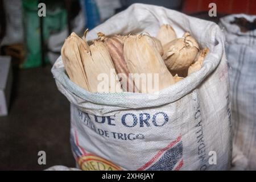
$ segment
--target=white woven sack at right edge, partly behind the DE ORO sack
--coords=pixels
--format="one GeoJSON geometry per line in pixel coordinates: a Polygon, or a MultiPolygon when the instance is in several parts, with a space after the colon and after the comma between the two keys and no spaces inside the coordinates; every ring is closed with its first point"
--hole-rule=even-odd
{"type": "Polygon", "coordinates": [[[230,68],[233,141],[247,158],[239,165],[246,169],[248,163],[247,169],[256,170],[256,30],[242,32],[240,27],[230,23],[235,17],[253,22],[256,16],[234,14],[220,20],[230,68]]]}

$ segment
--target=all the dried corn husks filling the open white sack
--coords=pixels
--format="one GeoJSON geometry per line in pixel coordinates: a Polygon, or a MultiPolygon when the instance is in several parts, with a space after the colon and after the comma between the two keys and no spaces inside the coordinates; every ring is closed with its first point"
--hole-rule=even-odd
{"type": "Polygon", "coordinates": [[[65,40],[61,57],[71,79],[89,92],[154,93],[175,84],[203,65],[208,48],[185,32],[177,38],[163,24],[156,38],[149,34],[106,36],[86,41],[74,32],[65,40]]]}

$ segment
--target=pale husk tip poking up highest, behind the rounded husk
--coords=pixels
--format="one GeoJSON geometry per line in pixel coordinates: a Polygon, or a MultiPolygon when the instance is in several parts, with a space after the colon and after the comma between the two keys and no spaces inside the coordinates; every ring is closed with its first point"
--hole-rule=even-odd
{"type": "Polygon", "coordinates": [[[165,44],[176,39],[177,35],[174,31],[174,28],[172,28],[169,24],[162,24],[162,26],[159,28],[156,38],[158,38],[162,43],[162,46],[164,46],[165,44]]]}

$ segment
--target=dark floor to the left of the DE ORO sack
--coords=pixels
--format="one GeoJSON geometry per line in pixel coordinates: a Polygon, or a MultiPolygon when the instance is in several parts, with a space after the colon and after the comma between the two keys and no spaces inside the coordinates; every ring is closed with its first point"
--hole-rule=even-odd
{"type": "Polygon", "coordinates": [[[69,144],[69,102],[57,90],[51,66],[14,70],[10,113],[0,117],[0,170],[75,167],[69,144]],[[46,151],[46,165],[38,152],[46,151]]]}

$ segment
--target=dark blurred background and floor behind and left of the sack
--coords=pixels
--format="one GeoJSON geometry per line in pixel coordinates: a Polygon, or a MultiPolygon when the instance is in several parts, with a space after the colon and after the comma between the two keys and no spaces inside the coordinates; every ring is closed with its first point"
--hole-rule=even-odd
{"type": "Polygon", "coordinates": [[[92,29],[137,2],[216,23],[224,15],[256,12],[253,0],[0,0],[0,169],[75,167],[69,102],[56,88],[52,64],[72,31],[82,35],[85,28],[92,29]],[[46,16],[39,17],[42,2],[46,16]],[[217,5],[216,17],[208,15],[211,2],[217,5]],[[46,165],[38,164],[41,150],[46,151],[46,165]]]}

